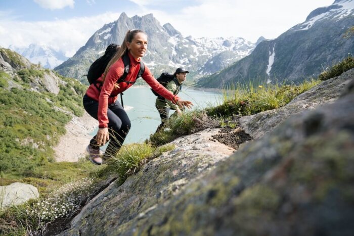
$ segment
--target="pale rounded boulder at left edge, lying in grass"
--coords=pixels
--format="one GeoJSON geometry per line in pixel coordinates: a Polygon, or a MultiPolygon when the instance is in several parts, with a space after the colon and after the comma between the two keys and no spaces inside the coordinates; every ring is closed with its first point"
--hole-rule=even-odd
{"type": "Polygon", "coordinates": [[[7,186],[0,186],[1,207],[20,205],[30,199],[39,198],[38,190],[35,186],[27,183],[15,182],[7,186]]]}

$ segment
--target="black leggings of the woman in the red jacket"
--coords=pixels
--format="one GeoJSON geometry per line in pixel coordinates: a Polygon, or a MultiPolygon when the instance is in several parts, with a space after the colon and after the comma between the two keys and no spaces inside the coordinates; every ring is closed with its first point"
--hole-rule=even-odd
{"type": "MultiPolygon", "coordinates": [[[[98,120],[98,102],[87,97],[87,95],[83,96],[82,102],[86,112],[98,120]]],[[[115,156],[122,146],[131,127],[129,117],[124,111],[122,105],[119,104],[118,100],[115,103],[108,105],[107,116],[109,122],[108,132],[110,141],[104,155],[106,158],[115,156]]],[[[99,148],[96,141],[96,135],[93,139],[91,139],[90,145],[93,148],[99,148]]]]}

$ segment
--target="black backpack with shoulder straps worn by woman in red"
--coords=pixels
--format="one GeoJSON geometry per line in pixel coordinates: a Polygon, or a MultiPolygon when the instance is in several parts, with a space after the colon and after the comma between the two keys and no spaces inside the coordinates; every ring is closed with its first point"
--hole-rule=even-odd
{"type": "MultiPolygon", "coordinates": [[[[102,57],[100,57],[99,59],[97,59],[94,63],[92,63],[92,65],[90,66],[89,71],[87,72],[87,75],[86,75],[87,80],[89,80],[90,84],[96,82],[96,80],[101,77],[101,75],[105,72],[105,69],[106,69],[109,61],[112,59],[114,54],[118,51],[118,49],[119,49],[119,46],[117,44],[115,44],[115,43],[109,44],[107,46],[105,54],[102,57]]],[[[124,79],[128,75],[130,59],[127,54],[125,54],[123,56],[123,63],[124,63],[124,74],[118,79],[117,83],[124,82],[125,81],[124,79]]],[[[137,79],[143,75],[144,70],[145,70],[145,66],[144,66],[143,61],[141,60],[140,61],[140,71],[137,75],[137,79]]],[[[125,82],[135,83],[135,81],[134,82],[125,81],[125,82]]]]}

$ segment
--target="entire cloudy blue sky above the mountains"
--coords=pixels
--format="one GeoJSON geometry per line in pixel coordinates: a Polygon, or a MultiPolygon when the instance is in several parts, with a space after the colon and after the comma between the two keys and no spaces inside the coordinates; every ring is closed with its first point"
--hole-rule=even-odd
{"type": "Polygon", "coordinates": [[[0,46],[51,45],[72,56],[104,24],[152,13],[184,36],[276,38],[334,0],[0,0],[0,46]]]}

